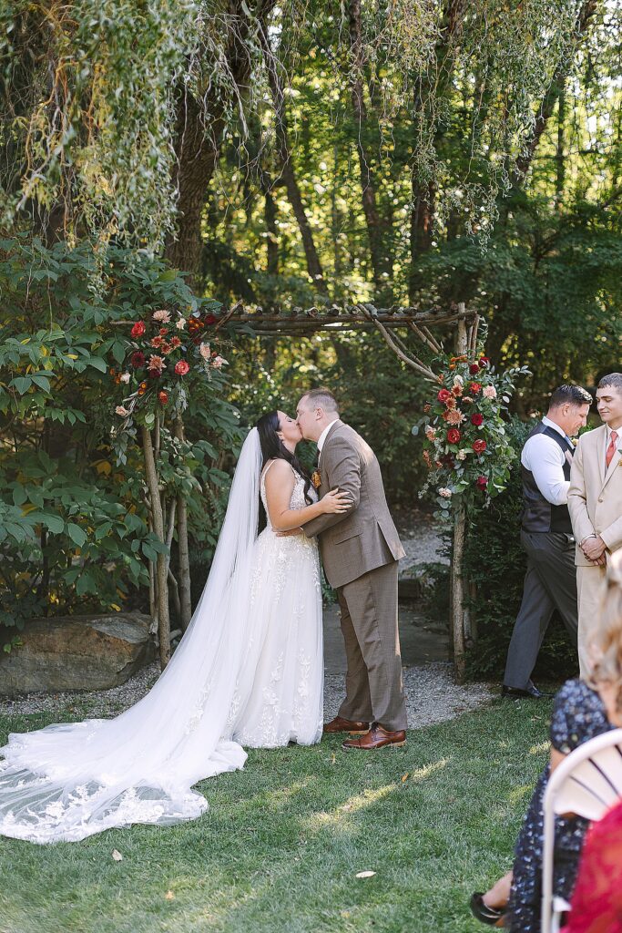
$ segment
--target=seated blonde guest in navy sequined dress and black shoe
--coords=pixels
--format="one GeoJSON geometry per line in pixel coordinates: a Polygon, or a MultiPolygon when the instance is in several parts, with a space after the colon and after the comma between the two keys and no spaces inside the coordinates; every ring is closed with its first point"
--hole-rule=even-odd
{"type": "MultiPolygon", "coordinates": [[[[542,805],[550,774],[578,745],[622,727],[622,550],[610,557],[605,579],[589,673],[585,680],[568,680],[555,697],[550,762],[533,791],[518,835],[513,870],[485,894],[471,898],[471,910],[478,920],[504,926],[512,933],[540,931],[542,805]]],[[[587,826],[587,820],[580,816],[556,818],[554,891],[566,900],[573,893],[587,826]]],[[[597,930],[600,933],[599,927],[594,933],[597,930]]]]}

